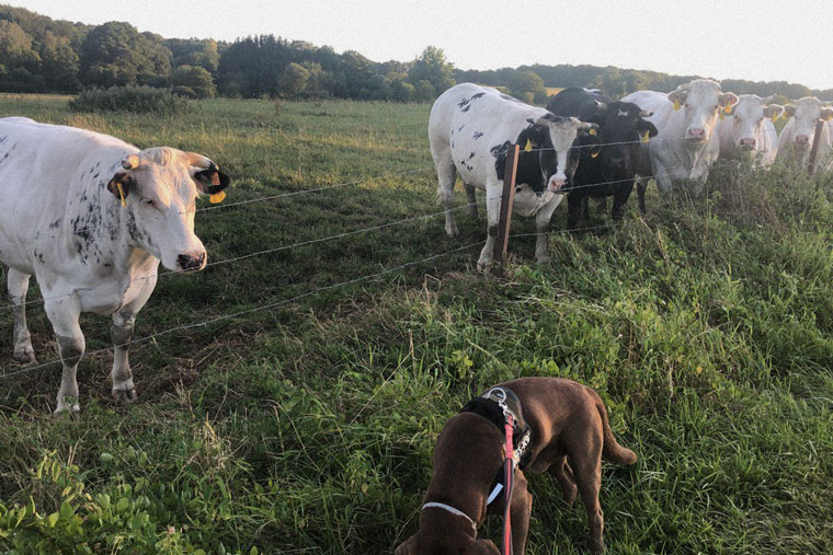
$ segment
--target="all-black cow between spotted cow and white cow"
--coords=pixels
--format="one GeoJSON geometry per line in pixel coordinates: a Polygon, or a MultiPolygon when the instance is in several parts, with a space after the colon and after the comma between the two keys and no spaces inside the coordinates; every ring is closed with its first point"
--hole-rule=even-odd
{"type": "Polygon", "coordinates": [[[575,228],[582,208],[584,218],[589,218],[587,197],[601,199],[606,206],[606,197],[613,196],[612,216],[618,220],[625,213],[625,203],[634,189],[640,138],[646,132],[649,137],[657,135],[657,127],[642,119],[651,113],[636,104],[615,102],[598,91],[591,92],[578,86],[564,89],[552,96],[547,109],[557,116],[575,116],[582,122],[598,125],[601,149],[593,153],[595,155],[582,152],[572,188],[567,189],[567,227],[575,228]]]}

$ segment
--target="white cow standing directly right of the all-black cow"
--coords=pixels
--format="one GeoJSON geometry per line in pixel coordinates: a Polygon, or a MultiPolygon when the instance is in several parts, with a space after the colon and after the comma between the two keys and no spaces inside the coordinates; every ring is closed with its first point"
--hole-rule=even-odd
{"type": "MultiPolygon", "coordinates": [[[[649,143],[660,190],[667,192],[673,182],[687,180],[692,183],[689,190],[699,194],[720,150],[715,132],[718,113],[721,107],[734,106],[738,96],[721,92],[717,81],[696,79],[667,94],[639,91],[628,94],[621,102],[632,102],[653,112],[653,116],[646,119],[660,131],[649,143]]],[[[647,182],[648,177],[640,176],[640,195],[647,182]]]]}

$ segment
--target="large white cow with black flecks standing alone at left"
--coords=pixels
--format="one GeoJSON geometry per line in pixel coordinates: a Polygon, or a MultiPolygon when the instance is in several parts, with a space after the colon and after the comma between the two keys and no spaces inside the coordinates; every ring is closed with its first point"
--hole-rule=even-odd
{"type": "Polygon", "coordinates": [[[0,119],[0,262],[9,266],[14,359],[35,362],[25,314],[34,275],[64,367],[56,414],[79,411],[82,312],[113,314],[113,395],[136,398],[127,361],[136,314],[153,291],[160,261],[172,271],[205,267],[194,203],[228,183],[194,152],[140,151],[92,131],[0,119]]]}

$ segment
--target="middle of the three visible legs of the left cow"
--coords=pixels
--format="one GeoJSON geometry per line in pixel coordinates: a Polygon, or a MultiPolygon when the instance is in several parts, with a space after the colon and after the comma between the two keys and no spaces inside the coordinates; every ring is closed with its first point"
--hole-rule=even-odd
{"type": "Polygon", "coordinates": [[[44,303],[46,315],[52,322],[55,336],[58,339],[58,350],[62,365],[60,378],[60,389],[58,390],[55,414],[58,415],[65,411],[78,413],[78,382],[76,381],[76,370],[81,357],[84,355],[84,335],[81,333],[81,326],[78,325],[80,310],[66,296],[48,299],[44,303]]]}

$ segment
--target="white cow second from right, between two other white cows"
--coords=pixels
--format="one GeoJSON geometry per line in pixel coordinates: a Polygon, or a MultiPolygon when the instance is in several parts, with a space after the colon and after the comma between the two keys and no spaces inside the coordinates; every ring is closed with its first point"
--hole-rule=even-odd
{"type": "Polygon", "coordinates": [[[721,159],[734,159],[742,152],[753,152],[756,165],[765,167],[775,161],[778,134],[773,122],[778,119],[784,108],[766,102],[756,94],[741,94],[738,105],[717,123],[721,159]]]}

